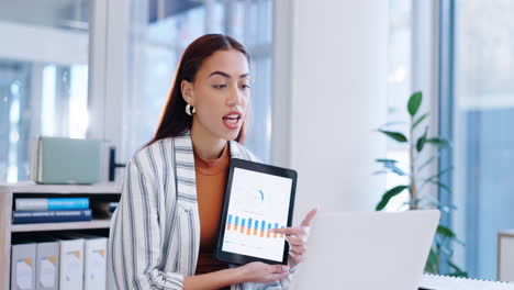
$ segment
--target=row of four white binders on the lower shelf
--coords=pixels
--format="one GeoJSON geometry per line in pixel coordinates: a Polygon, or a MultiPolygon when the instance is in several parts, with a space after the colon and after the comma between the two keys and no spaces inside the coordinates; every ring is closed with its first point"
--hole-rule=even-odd
{"type": "Polygon", "coordinates": [[[38,235],[12,245],[11,290],[114,289],[107,281],[102,236],[38,235]]]}

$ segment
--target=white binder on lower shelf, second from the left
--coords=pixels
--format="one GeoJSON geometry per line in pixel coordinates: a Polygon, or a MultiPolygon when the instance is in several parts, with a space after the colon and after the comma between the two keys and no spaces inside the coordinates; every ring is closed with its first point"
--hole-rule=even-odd
{"type": "Polygon", "coordinates": [[[37,236],[36,245],[36,290],[58,290],[59,286],[59,241],[51,236],[37,236]]]}

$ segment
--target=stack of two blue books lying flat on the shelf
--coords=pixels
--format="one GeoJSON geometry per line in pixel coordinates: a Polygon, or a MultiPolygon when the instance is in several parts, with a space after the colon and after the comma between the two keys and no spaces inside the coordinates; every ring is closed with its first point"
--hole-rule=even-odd
{"type": "Polygon", "coordinates": [[[91,221],[89,198],[16,198],[13,224],[91,221]]]}

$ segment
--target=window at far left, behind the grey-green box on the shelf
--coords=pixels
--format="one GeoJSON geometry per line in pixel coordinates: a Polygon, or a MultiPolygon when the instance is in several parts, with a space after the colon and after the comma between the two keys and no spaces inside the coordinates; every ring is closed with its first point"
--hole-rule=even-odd
{"type": "Polygon", "coordinates": [[[86,137],[89,5],[1,1],[0,182],[29,178],[35,136],[86,137]]]}

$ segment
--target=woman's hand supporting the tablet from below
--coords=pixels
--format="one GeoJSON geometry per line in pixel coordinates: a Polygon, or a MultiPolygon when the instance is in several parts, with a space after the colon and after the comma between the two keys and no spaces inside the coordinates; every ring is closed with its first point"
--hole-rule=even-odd
{"type": "Polygon", "coordinates": [[[237,268],[244,282],[272,283],[289,275],[289,266],[253,261],[237,268]]]}

